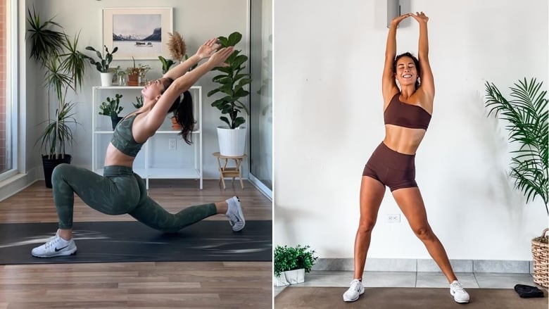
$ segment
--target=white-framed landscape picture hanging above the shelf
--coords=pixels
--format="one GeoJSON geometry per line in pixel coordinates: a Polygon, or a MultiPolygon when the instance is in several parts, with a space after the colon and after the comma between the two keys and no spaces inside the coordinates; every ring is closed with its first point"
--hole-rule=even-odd
{"type": "Polygon", "coordinates": [[[103,45],[118,51],[113,60],[168,58],[173,8],[103,8],[103,45]]]}

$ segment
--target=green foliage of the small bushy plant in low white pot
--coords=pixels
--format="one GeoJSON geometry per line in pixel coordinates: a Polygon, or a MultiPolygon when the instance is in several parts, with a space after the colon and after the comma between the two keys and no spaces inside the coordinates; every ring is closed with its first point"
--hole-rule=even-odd
{"type": "Polygon", "coordinates": [[[274,277],[279,277],[281,272],[301,268],[310,272],[317,258],[310,246],[277,246],[274,248],[274,277]]]}

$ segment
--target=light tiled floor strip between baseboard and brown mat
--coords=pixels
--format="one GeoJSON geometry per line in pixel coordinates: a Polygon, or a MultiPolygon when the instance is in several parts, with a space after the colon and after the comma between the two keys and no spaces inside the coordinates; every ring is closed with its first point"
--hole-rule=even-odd
{"type": "MultiPolygon", "coordinates": [[[[457,272],[455,275],[465,289],[512,289],[515,284],[534,285],[531,274],[457,272]]],[[[362,282],[367,287],[449,287],[442,272],[364,272],[362,278],[362,282]]],[[[352,279],[353,272],[313,270],[305,274],[305,282],[294,284],[294,286],[347,287],[352,279]]],[[[275,286],[274,296],[277,296],[285,287],[275,286]]]]}

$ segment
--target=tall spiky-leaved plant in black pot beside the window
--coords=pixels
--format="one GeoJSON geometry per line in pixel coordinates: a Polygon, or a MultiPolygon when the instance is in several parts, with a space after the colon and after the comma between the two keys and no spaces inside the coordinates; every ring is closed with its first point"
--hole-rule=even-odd
{"type": "Polygon", "coordinates": [[[63,27],[53,18],[42,21],[34,8],[27,10],[27,30],[30,39],[30,58],[34,58],[44,70],[44,87],[48,91],[48,118],[46,127],[35,144],[41,143],[42,163],[46,187],[51,188],[53,168],[61,163],[70,163],[72,156],[66,146],[72,145],[71,125],[78,122],[72,113],[74,103],[67,101],[69,91],[77,92],[82,87],[86,68],[85,55],[77,49],[80,33],[70,38],[63,27]],[[52,104],[51,100],[55,103],[52,104]],[[55,106],[55,108],[53,108],[55,106]],[[52,115],[52,111],[55,111],[52,115]]]}

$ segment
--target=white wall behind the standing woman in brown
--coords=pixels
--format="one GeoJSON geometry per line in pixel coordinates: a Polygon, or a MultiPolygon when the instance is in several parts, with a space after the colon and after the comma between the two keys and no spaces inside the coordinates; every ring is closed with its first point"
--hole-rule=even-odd
{"type": "MultiPolygon", "coordinates": [[[[546,0],[415,0],[429,16],[434,114],[416,156],[429,222],[451,259],[530,260],[548,225],[506,173],[507,132],[484,110],[484,83],[505,94],[522,77],[547,89],[546,0]]],[[[274,242],[352,258],[362,168],[384,137],[381,70],[386,1],[274,3],[274,242]],[[306,12],[306,13],[305,13],[306,12]]],[[[415,21],[398,53],[417,53],[415,21]]],[[[429,258],[386,191],[369,257],[429,258]]]]}

